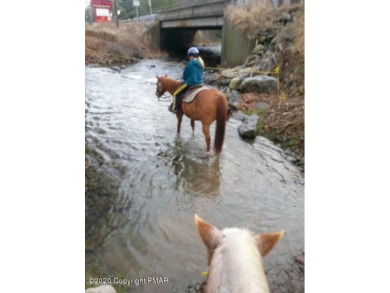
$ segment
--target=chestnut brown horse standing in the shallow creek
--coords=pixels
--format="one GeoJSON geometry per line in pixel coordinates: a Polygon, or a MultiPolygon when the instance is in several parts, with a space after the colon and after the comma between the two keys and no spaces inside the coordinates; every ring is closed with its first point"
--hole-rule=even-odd
{"type": "MultiPolygon", "coordinates": [[[[179,85],[179,81],[169,78],[166,75],[156,77],[156,96],[161,97],[165,92],[169,92],[173,95],[179,85]]],[[[191,103],[182,103],[181,108],[176,112],[177,133],[180,133],[183,114],[191,119],[192,133],[194,133],[195,129],[195,120],[200,120],[202,122],[202,131],[206,140],[206,150],[208,154],[210,152],[210,125],[214,120],[217,120],[214,151],[216,154],[219,154],[222,151],[227,120],[227,101],[225,96],[218,90],[210,88],[200,91],[191,103]]]]}

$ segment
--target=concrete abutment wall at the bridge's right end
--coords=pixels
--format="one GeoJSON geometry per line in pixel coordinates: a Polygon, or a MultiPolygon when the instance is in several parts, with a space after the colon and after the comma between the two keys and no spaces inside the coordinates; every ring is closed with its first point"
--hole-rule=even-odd
{"type": "Polygon", "coordinates": [[[221,65],[237,66],[245,62],[255,47],[256,39],[237,33],[233,26],[224,19],[222,29],[221,65]]]}

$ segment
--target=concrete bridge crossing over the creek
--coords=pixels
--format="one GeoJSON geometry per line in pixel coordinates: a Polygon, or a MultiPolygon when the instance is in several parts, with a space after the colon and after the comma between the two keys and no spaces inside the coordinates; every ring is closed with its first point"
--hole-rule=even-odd
{"type": "Polygon", "coordinates": [[[168,52],[185,53],[193,44],[198,30],[221,30],[221,64],[235,66],[242,64],[254,47],[250,40],[236,33],[224,18],[228,4],[237,1],[195,0],[181,1],[177,7],[158,13],[158,23],[149,29],[146,36],[151,43],[168,52]]]}

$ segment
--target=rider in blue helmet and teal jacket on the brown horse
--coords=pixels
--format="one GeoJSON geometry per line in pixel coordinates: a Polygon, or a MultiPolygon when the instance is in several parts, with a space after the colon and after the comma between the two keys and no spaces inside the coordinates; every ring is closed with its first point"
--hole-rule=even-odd
{"type": "Polygon", "coordinates": [[[187,51],[188,61],[184,68],[183,78],[173,94],[173,102],[168,107],[168,110],[176,114],[180,106],[180,100],[186,89],[194,86],[203,85],[203,69],[204,61],[199,56],[199,50],[196,47],[191,47],[187,51]]]}

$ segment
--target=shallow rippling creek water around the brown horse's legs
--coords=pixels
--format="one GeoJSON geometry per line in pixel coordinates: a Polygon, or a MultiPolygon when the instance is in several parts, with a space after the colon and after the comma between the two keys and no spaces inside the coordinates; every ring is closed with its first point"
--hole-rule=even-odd
{"type": "MultiPolygon", "coordinates": [[[[234,117],[220,156],[208,157],[200,122],[157,99],[156,74],[180,79],[183,64],[144,60],[120,72],[87,66],[85,98],[86,276],[111,278],[118,292],[186,292],[203,281],[207,252],[194,214],[218,228],[285,230],[264,259],[272,292],[300,292],[294,262],[304,251],[304,179],[269,140],[244,141],[234,117]],[[168,278],[134,284],[135,278],[168,278]],[[166,280],[166,279],[164,279],[166,280]]],[[[215,123],[211,143],[214,143],[215,123]]],[[[155,279],[156,280],[156,279],[155,279]]]]}

